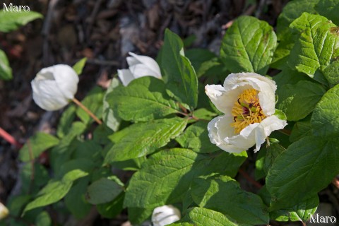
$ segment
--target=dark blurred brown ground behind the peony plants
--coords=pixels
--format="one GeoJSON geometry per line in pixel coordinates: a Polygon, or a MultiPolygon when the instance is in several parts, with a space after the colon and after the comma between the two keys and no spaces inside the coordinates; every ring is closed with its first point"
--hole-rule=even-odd
{"type": "MultiPolygon", "coordinates": [[[[43,67],[73,65],[87,57],[76,93],[82,100],[94,85],[107,88],[117,69],[126,68],[128,52],[155,58],[165,28],[194,40],[191,47],[219,54],[222,36],[234,18],[256,16],[275,27],[287,0],[27,0],[1,1],[0,8],[3,2],[29,6],[44,15],[43,20],[16,31],[0,32],[0,49],[13,69],[13,80],[0,81],[0,126],[25,143],[36,131],[54,133],[62,112],[45,112],[32,101],[30,81],[43,67]]],[[[25,186],[17,184],[18,150],[0,138],[0,201],[4,203],[16,187],[25,186]]],[[[336,197],[338,189],[332,185],[323,191],[321,201],[338,211],[336,197]]]]}

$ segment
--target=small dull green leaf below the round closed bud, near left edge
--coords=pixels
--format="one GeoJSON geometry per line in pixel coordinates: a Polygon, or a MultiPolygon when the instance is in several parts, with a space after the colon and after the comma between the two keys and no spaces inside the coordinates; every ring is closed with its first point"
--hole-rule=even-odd
{"type": "Polygon", "coordinates": [[[19,159],[29,162],[39,157],[44,150],[52,148],[59,143],[59,139],[48,133],[37,132],[20,149],[19,159]]]}

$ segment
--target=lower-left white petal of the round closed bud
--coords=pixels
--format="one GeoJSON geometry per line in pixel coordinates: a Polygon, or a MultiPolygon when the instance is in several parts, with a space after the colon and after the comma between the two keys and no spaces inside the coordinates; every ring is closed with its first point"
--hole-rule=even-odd
{"type": "Polygon", "coordinates": [[[54,111],[65,107],[69,100],[64,97],[55,81],[42,80],[31,82],[33,100],[44,110],[54,111]]]}

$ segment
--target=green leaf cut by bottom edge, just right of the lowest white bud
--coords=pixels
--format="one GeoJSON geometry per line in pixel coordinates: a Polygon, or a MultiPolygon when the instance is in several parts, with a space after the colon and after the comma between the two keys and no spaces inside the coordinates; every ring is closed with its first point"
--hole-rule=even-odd
{"type": "MultiPolygon", "coordinates": [[[[236,222],[233,222],[227,216],[219,213],[215,210],[209,210],[207,208],[194,207],[188,210],[185,218],[183,219],[197,226],[237,226],[236,222]],[[187,219],[187,220],[186,220],[187,219]]],[[[240,224],[243,225],[243,224],[240,224]]]]}

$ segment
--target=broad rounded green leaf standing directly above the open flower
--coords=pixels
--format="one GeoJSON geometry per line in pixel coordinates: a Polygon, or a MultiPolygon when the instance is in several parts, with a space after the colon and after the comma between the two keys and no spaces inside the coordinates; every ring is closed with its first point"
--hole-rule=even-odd
{"type": "Polygon", "coordinates": [[[222,40],[220,57],[233,73],[248,71],[265,75],[276,45],[277,37],[268,23],[240,16],[222,40]]]}

